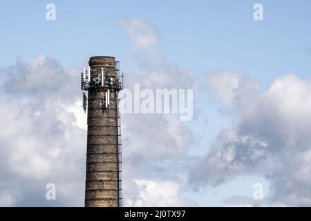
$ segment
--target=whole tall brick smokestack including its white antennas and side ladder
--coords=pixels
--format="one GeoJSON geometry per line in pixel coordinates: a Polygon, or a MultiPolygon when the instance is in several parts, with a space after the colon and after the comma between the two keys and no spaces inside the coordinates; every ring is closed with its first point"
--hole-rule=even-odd
{"type": "Polygon", "coordinates": [[[88,90],[83,102],[88,110],[85,206],[122,206],[117,94],[124,85],[123,74],[114,57],[91,57],[88,64],[81,75],[82,90],[88,90]]]}

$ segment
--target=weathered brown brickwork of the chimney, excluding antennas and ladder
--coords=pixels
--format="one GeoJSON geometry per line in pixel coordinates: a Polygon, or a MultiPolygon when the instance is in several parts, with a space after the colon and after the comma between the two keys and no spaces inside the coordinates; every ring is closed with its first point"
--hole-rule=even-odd
{"type": "MultiPolygon", "coordinates": [[[[115,77],[114,57],[91,57],[91,81],[101,75],[115,77]]],[[[88,90],[88,140],[86,156],[85,206],[119,206],[117,159],[117,95],[110,88],[110,104],[105,109],[103,97],[108,89],[88,90]]]]}

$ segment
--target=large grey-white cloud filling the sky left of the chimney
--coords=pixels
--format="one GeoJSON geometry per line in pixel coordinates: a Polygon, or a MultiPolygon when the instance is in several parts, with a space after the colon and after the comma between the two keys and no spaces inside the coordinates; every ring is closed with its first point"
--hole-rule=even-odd
{"type": "Polygon", "coordinates": [[[1,73],[1,204],[83,206],[86,131],[66,109],[79,99],[79,77],[44,55],[1,73]],[[59,189],[53,203],[45,200],[49,182],[59,189]]]}

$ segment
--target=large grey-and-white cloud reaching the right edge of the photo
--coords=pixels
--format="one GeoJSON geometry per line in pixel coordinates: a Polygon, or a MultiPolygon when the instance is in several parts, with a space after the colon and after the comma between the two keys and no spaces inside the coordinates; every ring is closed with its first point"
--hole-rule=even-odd
{"type": "MultiPolygon", "coordinates": [[[[223,78],[215,74],[214,82],[218,76],[223,78]]],[[[264,175],[272,184],[272,202],[310,206],[311,81],[287,75],[260,92],[247,86],[256,81],[240,78],[234,94],[231,84],[220,91],[229,97],[224,109],[237,122],[218,135],[191,182],[216,186],[237,175],[264,175]]],[[[218,86],[211,89],[219,93],[218,86]]]]}

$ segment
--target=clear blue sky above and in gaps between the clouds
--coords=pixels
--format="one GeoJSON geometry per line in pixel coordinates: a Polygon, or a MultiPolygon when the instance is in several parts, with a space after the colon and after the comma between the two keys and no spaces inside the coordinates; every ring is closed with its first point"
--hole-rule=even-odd
{"type": "MultiPolygon", "coordinates": [[[[44,54],[62,66],[82,70],[88,57],[113,55],[131,76],[141,68],[139,52],[133,50],[118,21],[137,17],[158,32],[159,47],[167,62],[196,74],[200,84],[205,85],[207,73],[232,70],[258,79],[265,89],[275,78],[290,73],[310,79],[310,8],[311,2],[307,0],[4,0],[0,6],[0,68],[44,54]],[[46,20],[47,3],[55,3],[56,21],[46,20]],[[263,21],[253,19],[255,3],[263,4],[263,21]]],[[[195,134],[189,155],[207,153],[220,130],[236,120],[220,113],[220,101],[207,93],[204,86],[202,91],[195,95],[195,102],[203,114],[185,123],[195,134]]],[[[249,175],[220,186],[216,193],[207,191],[204,197],[193,191],[182,194],[198,194],[196,200],[201,205],[217,200],[216,204],[222,204],[228,195],[252,197],[252,189],[246,186],[254,182],[266,181],[263,176],[249,175]],[[223,193],[229,187],[235,191],[223,193]]]]}

